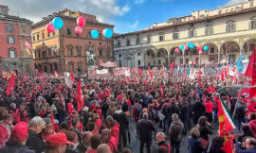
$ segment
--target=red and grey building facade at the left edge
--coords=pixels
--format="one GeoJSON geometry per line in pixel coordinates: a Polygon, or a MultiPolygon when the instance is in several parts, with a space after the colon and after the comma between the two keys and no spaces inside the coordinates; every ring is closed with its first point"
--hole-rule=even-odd
{"type": "Polygon", "coordinates": [[[32,73],[33,59],[26,51],[26,42],[31,44],[31,26],[31,21],[10,15],[9,8],[0,5],[0,70],[32,73]]]}

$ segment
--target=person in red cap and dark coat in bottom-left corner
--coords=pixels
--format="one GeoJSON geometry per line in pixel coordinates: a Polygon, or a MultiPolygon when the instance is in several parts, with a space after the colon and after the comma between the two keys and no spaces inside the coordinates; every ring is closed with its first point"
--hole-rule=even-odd
{"type": "Polygon", "coordinates": [[[19,122],[11,129],[9,142],[0,148],[0,153],[23,152],[35,153],[25,145],[27,141],[27,123],[19,122]]]}

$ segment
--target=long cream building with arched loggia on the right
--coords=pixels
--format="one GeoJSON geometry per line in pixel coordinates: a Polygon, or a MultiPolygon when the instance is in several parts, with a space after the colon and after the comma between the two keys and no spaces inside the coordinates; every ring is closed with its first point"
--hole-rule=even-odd
{"type": "Polygon", "coordinates": [[[119,67],[168,66],[235,62],[240,55],[248,59],[256,44],[256,1],[214,10],[197,10],[190,16],[169,19],[144,30],[114,37],[115,57],[119,67]],[[195,47],[175,52],[180,45],[195,47]],[[208,45],[199,56],[197,47],[208,45]]]}

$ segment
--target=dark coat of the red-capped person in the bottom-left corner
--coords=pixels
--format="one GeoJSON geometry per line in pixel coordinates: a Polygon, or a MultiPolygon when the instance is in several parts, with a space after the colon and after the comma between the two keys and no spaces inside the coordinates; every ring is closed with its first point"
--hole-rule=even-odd
{"type": "Polygon", "coordinates": [[[35,151],[29,150],[24,144],[9,141],[0,148],[0,153],[35,153],[35,151]]]}

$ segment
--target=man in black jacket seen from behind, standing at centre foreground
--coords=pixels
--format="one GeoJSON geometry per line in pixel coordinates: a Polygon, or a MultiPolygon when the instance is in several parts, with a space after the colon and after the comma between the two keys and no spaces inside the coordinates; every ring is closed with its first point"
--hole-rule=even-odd
{"type": "Polygon", "coordinates": [[[143,119],[137,122],[137,131],[140,140],[140,153],[143,153],[144,144],[146,143],[147,152],[150,153],[152,144],[152,131],[155,132],[154,124],[148,119],[148,113],[143,113],[143,119]]]}

